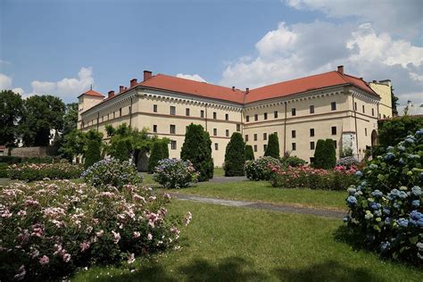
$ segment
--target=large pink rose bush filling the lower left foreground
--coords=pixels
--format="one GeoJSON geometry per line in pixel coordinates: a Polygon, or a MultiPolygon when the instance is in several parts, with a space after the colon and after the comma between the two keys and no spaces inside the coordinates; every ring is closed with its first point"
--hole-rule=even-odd
{"type": "Polygon", "coordinates": [[[76,268],[135,260],[178,241],[191,213],[168,219],[170,195],[126,185],[99,190],[69,180],[0,191],[0,280],[54,280],[76,268]]]}

